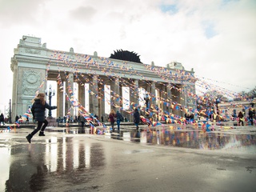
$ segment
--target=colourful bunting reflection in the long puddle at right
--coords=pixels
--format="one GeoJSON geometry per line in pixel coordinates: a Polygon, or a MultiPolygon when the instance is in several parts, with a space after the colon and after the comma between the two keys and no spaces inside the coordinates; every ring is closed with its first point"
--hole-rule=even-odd
{"type": "Polygon", "coordinates": [[[220,150],[252,146],[256,151],[256,137],[254,134],[206,133],[202,130],[151,130],[126,132],[123,133],[123,135],[123,140],[150,145],[178,146],[204,150],[220,150]]]}

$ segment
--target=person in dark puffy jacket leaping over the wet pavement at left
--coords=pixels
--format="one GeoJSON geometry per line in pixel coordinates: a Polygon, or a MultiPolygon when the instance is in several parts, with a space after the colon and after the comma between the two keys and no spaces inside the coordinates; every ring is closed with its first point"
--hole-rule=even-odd
{"type": "Polygon", "coordinates": [[[46,108],[48,110],[55,110],[57,106],[49,106],[45,100],[45,94],[40,93],[36,98],[34,98],[33,105],[31,107],[31,112],[33,114],[33,118],[38,121],[37,129],[33,130],[31,134],[26,136],[28,142],[31,142],[31,138],[33,138],[34,134],[38,133],[40,130],[39,136],[45,136],[44,130],[48,125],[48,121],[45,118],[46,108]]]}

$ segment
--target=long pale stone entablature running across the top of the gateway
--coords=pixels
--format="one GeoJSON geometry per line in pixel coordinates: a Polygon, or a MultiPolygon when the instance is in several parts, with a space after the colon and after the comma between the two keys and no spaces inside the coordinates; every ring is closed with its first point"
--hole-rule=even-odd
{"type": "MultiPolygon", "coordinates": [[[[64,70],[68,73],[78,72],[78,74],[98,74],[101,76],[117,76],[119,78],[132,78],[138,79],[142,81],[149,81],[149,82],[166,82],[166,83],[173,83],[173,84],[182,84],[184,82],[173,80],[171,77],[168,76],[158,76],[155,71],[151,71],[149,68],[150,65],[136,63],[136,62],[126,62],[120,61],[117,59],[110,59],[110,58],[101,58],[96,57],[94,55],[88,55],[92,58],[92,61],[98,61],[96,64],[91,62],[81,62],[81,59],[84,54],[75,54],[72,52],[64,52],[64,51],[54,51],[49,50],[44,47],[30,47],[26,45],[18,46],[19,49],[22,50],[22,54],[15,54],[14,58],[16,59],[15,63],[33,63],[38,64],[36,66],[39,69],[46,69],[50,66],[49,74],[52,70],[64,70]],[[43,51],[43,54],[42,54],[43,51]],[[31,55],[36,54],[36,56],[31,55]],[[66,56],[61,59],[57,59],[58,56],[54,56],[53,54],[65,54],[66,56]],[[79,62],[80,61],[80,62],[79,62]],[[109,62],[108,62],[109,61],[109,62]],[[104,62],[111,64],[105,64],[104,62]],[[114,63],[114,65],[113,65],[114,63]],[[74,66],[76,66],[79,70],[74,71],[74,66]],[[131,74],[131,70],[135,71],[136,74],[131,74]],[[116,74],[116,75],[115,75],[116,74]]],[[[86,54],[87,55],[87,54],[86,54]]],[[[21,64],[20,66],[27,66],[26,64],[21,64]]],[[[12,67],[12,66],[11,66],[12,67]]],[[[13,69],[13,68],[12,68],[13,69]]],[[[163,70],[165,68],[161,66],[154,66],[154,70],[163,70]]],[[[166,69],[171,71],[173,74],[177,74],[177,70],[166,69]]],[[[184,70],[186,71],[186,70],[184,70]]],[[[188,73],[193,73],[190,71],[186,71],[188,73]]],[[[193,84],[193,83],[191,83],[193,84]]]]}

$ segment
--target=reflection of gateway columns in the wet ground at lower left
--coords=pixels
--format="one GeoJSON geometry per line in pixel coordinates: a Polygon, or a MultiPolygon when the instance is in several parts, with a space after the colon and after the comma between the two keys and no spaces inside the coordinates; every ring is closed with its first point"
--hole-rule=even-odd
{"type": "Polygon", "coordinates": [[[0,166],[3,179],[0,191],[50,190],[54,179],[60,177],[58,182],[63,182],[54,183],[54,186],[70,186],[68,181],[89,182],[97,178],[97,174],[93,174],[94,170],[106,165],[102,144],[71,137],[51,137],[30,145],[12,146],[10,149],[9,152],[7,148],[0,150],[6,154],[2,162],[8,169],[4,170],[3,165],[0,166]],[[46,175],[50,174],[54,175],[52,181],[46,180],[46,175]]]}

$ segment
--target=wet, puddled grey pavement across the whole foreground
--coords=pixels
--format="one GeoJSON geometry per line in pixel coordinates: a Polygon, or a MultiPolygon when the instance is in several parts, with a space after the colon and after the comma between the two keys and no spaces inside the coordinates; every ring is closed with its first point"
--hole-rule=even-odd
{"type": "Polygon", "coordinates": [[[256,127],[0,133],[0,191],[256,191],[256,127]]]}

